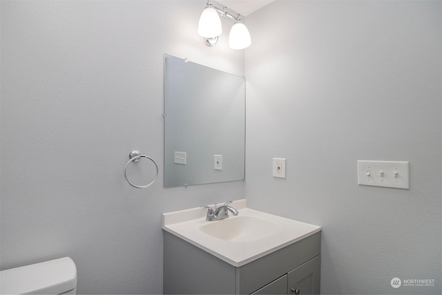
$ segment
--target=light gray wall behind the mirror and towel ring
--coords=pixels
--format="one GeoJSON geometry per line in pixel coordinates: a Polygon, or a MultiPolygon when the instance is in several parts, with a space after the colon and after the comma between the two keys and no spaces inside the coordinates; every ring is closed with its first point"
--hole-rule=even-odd
{"type": "Polygon", "coordinates": [[[161,294],[161,213],[243,197],[163,189],[164,53],[244,75],[228,34],[198,36],[205,3],[1,1],[1,269],[70,256],[79,294],[161,294]],[[160,166],[148,189],[133,149],[160,166]]]}

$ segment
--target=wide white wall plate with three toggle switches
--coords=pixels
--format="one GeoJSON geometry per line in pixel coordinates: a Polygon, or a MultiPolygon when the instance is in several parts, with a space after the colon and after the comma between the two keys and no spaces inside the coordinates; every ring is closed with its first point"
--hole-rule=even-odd
{"type": "Polygon", "coordinates": [[[410,189],[409,162],[358,161],[358,184],[410,189]]]}

